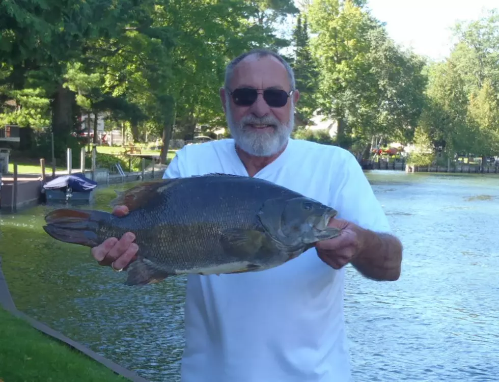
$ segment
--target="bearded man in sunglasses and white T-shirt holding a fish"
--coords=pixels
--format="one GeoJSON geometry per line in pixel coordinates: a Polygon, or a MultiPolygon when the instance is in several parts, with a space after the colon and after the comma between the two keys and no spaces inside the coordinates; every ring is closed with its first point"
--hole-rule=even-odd
{"type": "MultiPolygon", "coordinates": [[[[227,68],[220,98],[233,139],[189,145],[165,178],[229,173],[264,178],[339,211],[340,237],[273,269],[189,275],[182,381],[345,382],[344,265],[397,280],[402,245],[348,151],[290,139],[299,99],[293,71],[277,54],[252,51],[227,68]]],[[[116,214],[125,214],[118,208],[116,214]]],[[[92,249],[116,270],[134,260],[133,235],[92,249]]]]}

